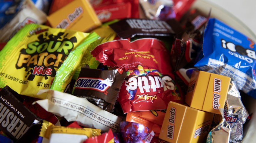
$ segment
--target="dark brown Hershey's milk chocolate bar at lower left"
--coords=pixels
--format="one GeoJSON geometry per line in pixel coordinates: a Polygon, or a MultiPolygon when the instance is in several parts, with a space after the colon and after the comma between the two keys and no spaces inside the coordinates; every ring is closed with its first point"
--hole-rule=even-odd
{"type": "Polygon", "coordinates": [[[31,142],[38,138],[42,119],[25,107],[19,96],[9,86],[0,91],[0,130],[14,142],[31,142]]]}

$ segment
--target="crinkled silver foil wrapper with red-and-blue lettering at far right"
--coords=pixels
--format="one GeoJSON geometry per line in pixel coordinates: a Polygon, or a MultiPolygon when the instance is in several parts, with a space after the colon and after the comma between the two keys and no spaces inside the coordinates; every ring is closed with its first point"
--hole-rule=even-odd
{"type": "Polygon", "coordinates": [[[242,142],[243,124],[248,115],[249,114],[241,101],[241,96],[236,87],[236,83],[232,81],[229,86],[226,105],[224,107],[224,118],[231,128],[230,142],[242,142]]]}

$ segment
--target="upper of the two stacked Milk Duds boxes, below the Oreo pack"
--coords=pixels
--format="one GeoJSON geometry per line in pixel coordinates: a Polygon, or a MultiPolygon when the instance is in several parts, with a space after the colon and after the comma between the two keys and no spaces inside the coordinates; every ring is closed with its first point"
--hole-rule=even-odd
{"type": "Polygon", "coordinates": [[[230,77],[203,71],[193,71],[185,98],[192,108],[220,114],[224,108],[230,77]]]}

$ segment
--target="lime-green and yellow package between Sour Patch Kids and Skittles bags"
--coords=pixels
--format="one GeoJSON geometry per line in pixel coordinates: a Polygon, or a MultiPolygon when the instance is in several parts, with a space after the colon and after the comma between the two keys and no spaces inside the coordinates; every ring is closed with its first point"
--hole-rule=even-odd
{"type": "Polygon", "coordinates": [[[95,57],[92,57],[91,51],[97,45],[112,41],[115,37],[115,32],[106,24],[92,31],[92,34],[88,36],[86,41],[72,51],[61,65],[52,83],[51,89],[64,92],[71,80],[76,80],[81,68],[87,64],[91,69],[97,69],[99,62],[95,57]],[[101,36],[100,39],[98,35],[101,36]],[[88,43],[91,44],[88,45],[88,43]]]}

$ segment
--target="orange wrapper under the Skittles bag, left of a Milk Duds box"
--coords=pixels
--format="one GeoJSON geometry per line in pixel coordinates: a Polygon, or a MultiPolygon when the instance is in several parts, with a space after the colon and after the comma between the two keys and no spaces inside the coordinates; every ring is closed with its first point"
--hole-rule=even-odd
{"type": "Polygon", "coordinates": [[[143,124],[148,127],[149,132],[153,130],[155,136],[159,136],[165,112],[166,110],[129,112],[127,113],[126,121],[143,124]]]}

